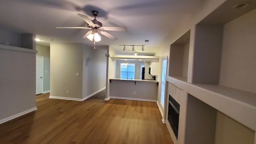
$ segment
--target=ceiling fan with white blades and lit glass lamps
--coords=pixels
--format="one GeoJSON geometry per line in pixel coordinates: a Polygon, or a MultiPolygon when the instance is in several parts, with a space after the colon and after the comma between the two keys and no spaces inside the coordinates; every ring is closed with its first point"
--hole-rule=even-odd
{"type": "Polygon", "coordinates": [[[98,33],[110,38],[111,40],[117,40],[115,36],[112,34],[109,34],[108,30],[110,31],[126,31],[127,28],[124,26],[102,26],[102,23],[96,20],[96,16],[98,16],[99,12],[96,10],[92,10],[92,14],[94,15],[94,20],[90,20],[88,16],[85,16],[83,14],[78,14],[86,23],[88,27],[56,27],[56,28],[81,28],[81,29],[91,29],[88,31],[83,38],[88,38],[89,40],[94,39],[95,42],[99,42],[101,40],[101,37],[98,33]]]}

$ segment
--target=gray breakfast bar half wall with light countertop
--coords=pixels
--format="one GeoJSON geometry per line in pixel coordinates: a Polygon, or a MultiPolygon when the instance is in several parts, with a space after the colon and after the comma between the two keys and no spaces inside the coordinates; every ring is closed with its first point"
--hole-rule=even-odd
{"type": "Polygon", "coordinates": [[[110,98],[156,102],[158,81],[110,78],[110,98]]]}

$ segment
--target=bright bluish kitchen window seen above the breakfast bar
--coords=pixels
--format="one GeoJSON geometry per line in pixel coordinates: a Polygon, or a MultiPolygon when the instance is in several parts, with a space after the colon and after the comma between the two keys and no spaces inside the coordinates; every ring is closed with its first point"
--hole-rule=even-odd
{"type": "Polygon", "coordinates": [[[120,64],[120,78],[134,79],[135,64],[121,63],[120,64]]]}

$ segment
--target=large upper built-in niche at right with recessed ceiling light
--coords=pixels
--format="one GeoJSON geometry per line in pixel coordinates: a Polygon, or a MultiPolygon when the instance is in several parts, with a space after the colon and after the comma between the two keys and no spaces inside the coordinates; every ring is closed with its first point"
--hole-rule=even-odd
{"type": "Polygon", "coordinates": [[[194,27],[192,83],[256,93],[256,2],[234,5],[228,0],[194,27]]]}

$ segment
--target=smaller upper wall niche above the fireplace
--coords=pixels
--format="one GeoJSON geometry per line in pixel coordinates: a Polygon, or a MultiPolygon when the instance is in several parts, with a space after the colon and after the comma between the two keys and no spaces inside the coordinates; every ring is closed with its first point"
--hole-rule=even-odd
{"type": "Polygon", "coordinates": [[[190,30],[170,45],[169,76],[187,82],[190,30]]]}

